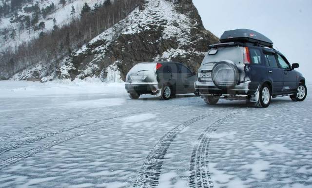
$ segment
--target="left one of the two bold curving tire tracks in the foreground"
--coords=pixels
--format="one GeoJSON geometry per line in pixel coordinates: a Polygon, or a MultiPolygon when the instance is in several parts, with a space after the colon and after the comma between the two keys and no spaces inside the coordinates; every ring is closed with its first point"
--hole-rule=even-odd
{"type": "Polygon", "coordinates": [[[193,123],[204,119],[213,114],[204,114],[192,118],[180,125],[177,125],[169,132],[167,132],[152,148],[151,152],[145,158],[143,165],[141,166],[137,180],[135,181],[134,188],[153,188],[159,184],[159,176],[162,168],[163,161],[165,159],[165,154],[176,135],[181,132],[184,128],[193,123]]]}

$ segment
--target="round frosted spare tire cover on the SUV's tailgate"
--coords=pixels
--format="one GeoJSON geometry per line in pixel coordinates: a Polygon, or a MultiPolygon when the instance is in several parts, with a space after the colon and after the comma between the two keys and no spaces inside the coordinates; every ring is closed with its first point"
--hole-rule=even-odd
{"type": "Polygon", "coordinates": [[[212,70],[212,80],[220,89],[234,87],[239,81],[236,64],[230,60],[223,60],[216,63],[212,70]]]}

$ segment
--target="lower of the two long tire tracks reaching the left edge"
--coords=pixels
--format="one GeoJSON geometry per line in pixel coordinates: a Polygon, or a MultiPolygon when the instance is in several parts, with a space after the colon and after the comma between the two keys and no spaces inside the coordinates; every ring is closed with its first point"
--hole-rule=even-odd
{"type": "MultiPolygon", "coordinates": [[[[183,105],[177,105],[175,109],[178,109],[178,108],[182,108],[182,107],[189,107],[189,106],[183,106],[183,105]]],[[[169,107],[164,107],[164,108],[157,108],[157,109],[151,109],[153,111],[157,111],[157,110],[164,110],[166,108],[169,108],[169,107]]],[[[171,108],[171,107],[170,107],[171,108]]],[[[119,115],[119,116],[115,116],[115,117],[112,117],[112,118],[109,118],[109,119],[106,119],[106,120],[101,120],[101,121],[98,121],[96,122],[95,124],[99,124],[101,123],[101,125],[97,125],[97,126],[93,126],[93,127],[90,127],[90,126],[87,126],[84,130],[81,130],[81,131],[78,131],[78,132],[75,132],[75,133],[69,133],[68,135],[66,136],[63,136],[61,138],[58,138],[56,140],[53,140],[53,141],[49,141],[41,146],[37,146],[35,148],[32,148],[32,149],[29,149],[29,150],[26,150],[26,151],[23,151],[19,154],[16,154],[12,157],[9,157],[5,160],[2,160],[0,161],[0,169],[4,169],[8,166],[11,166],[11,165],[14,165],[15,163],[23,160],[23,159],[26,159],[36,153],[39,153],[45,149],[49,149],[53,146],[57,146],[63,142],[66,142],[68,140],[71,140],[71,139],[74,139],[78,136],[82,136],[84,134],[87,134],[87,133],[90,133],[92,131],[95,131],[95,130],[98,130],[100,128],[103,128],[105,126],[108,126],[108,125],[114,125],[116,124],[116,121],[115,119],[117,118],[122,118],[122,117],[126,117],[126,116],[131,116],[131,115],[135,115],[137,113],[143,113],[143,112],[146,112],[146,111],[140,111],[140,112],[132,112],[132,113],[129,113],[129,114],[124,114],[124,115],[119,115]],[[108,123],[108,121],[111,121],[108,123]],[[105,123],[105,125],[103,125],[102,123],[105,123]]],[[[81,125],[81,126],[85,126],[85,125],[81,125]]],[[[81,127],[79,126],[79,127],[81,127]]],[[[28,143],[29,144],[29,143],[28,143]]]]}

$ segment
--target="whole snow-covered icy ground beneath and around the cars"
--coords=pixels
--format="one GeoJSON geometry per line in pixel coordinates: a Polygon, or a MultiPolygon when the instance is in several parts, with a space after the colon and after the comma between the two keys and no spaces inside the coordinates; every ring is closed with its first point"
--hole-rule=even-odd
{"type": "Polygon", "coordinates": [[[0,187],[311,188],[311,105],[1,81],[0,187]]]}

